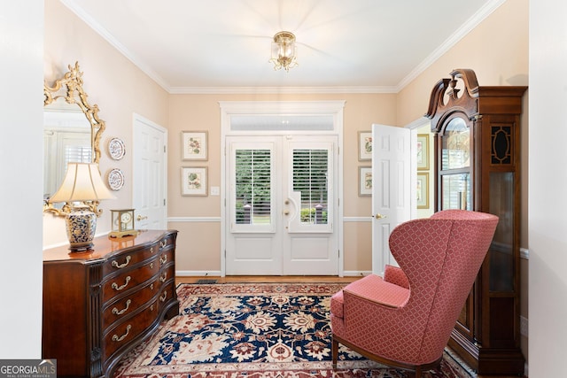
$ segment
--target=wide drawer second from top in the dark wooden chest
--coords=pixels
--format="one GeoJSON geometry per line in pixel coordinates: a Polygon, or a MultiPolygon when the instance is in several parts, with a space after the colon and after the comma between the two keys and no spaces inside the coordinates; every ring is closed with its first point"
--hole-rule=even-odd
{"type": "Polygon", "coordinates": [[[122,295],[131,289],[136,289],[140,283],[146,282],[159,272],[159,261],[155,258],[136,269],[129,269],[122,274],[115,275],[103,282],[103,304],[116,296],[122,295]]]}

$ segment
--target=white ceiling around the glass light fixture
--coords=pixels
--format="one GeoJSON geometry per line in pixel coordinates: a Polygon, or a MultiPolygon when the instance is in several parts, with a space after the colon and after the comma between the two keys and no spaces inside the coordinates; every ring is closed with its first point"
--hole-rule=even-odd
{"type": "Polygon", "coordinates": [[[169,93],[395,93],[505,1],[61,0],[169,93]]]}

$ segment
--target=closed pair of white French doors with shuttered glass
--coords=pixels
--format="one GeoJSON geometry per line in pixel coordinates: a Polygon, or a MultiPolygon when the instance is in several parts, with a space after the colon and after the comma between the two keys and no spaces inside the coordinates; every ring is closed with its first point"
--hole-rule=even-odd
{"type": "Polygon", "coordinates": [[[226,142],[226,273],[338,274],[337,136],[226,142]]]}

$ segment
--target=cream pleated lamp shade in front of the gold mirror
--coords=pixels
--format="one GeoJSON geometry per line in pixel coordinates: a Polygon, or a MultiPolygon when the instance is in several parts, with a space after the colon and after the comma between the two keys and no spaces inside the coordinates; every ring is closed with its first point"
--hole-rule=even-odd
{"type": "Polygon", "coordinates": [[[98,201],[116,198],[100,177],[95,163],[68,163],[65,178],[49,202],[98,201]]]}

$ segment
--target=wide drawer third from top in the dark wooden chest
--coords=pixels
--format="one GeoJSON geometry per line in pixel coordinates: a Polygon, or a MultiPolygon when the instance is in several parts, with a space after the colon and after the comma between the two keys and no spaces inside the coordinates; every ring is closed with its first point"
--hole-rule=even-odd
{"type": "Polygon", "coordinates": [[[127,318],[131,313],[152,300],[158,293],[161,282],[158,279],[148,283],[142,289],[130,291],[120,300],[107,305],[103,310],[103,329],[111,327],[113,322],[127,318]]]}

